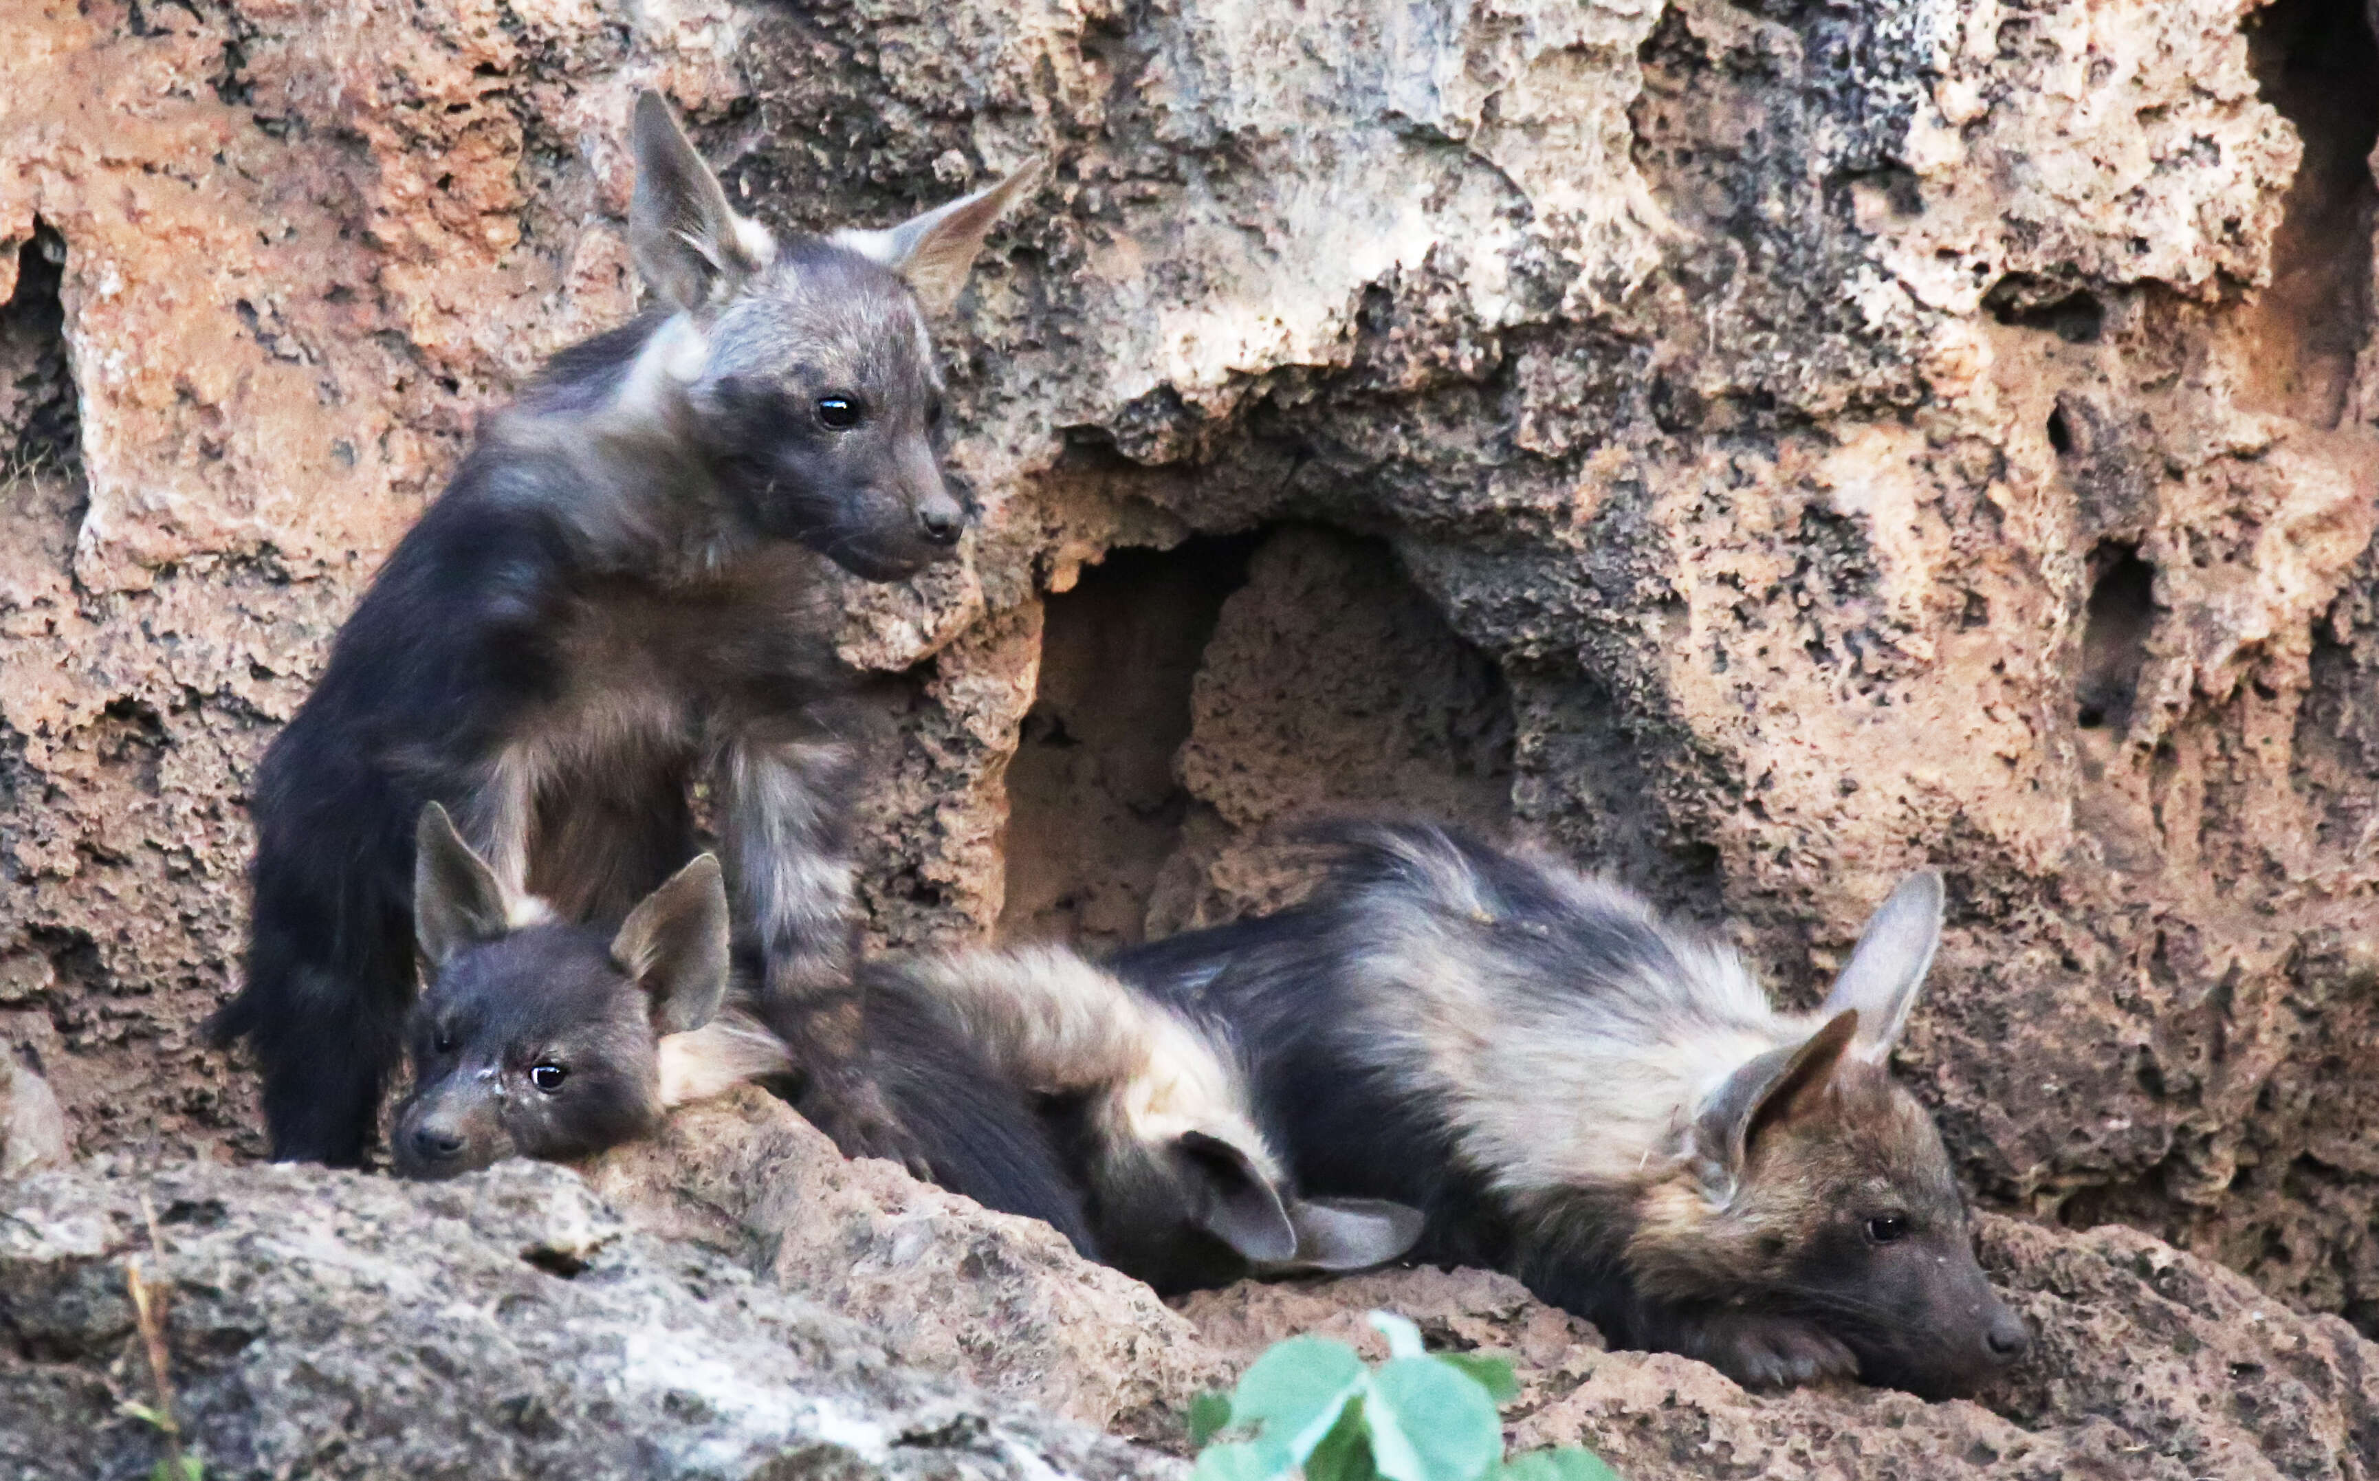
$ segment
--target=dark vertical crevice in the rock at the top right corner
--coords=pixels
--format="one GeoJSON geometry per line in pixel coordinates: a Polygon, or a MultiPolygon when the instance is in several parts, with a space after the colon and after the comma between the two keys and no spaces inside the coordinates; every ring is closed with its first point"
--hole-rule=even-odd
{"type": "Polygon", "coordinates": [[[2305,140],[2251,323],[2262,409],[2336,426],[2369,328],[2379,43],[2365,0],[2277,0],[2246,26],[2265,102],[2305,140]]]}

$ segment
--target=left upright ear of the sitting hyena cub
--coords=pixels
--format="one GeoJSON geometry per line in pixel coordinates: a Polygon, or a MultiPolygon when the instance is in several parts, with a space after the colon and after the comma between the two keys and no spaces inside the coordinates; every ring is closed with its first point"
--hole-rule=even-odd
{"type": "Polygon", "coordinates": [[[659,93],[638,95],[630,147],[628,250],[654,297],[673,309],[699,309],[768,266],[776,250],[768,233],[728,207],[718,176],[659,93]]]}

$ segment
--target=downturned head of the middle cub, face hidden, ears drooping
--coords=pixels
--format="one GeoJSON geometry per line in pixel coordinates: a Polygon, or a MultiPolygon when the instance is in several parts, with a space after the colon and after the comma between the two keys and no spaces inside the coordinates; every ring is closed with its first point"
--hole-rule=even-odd
{"type": "Polygon", "coordinates": [[[1170,1017],[1154,1029],[1149,1065],[1080,1110],[1085,1212],[1111,1265],[1192,1291],[1251,1272],[1363,1269],[1413,1248],[1413,1208],[1301,1198],[1223,1055],[1170,1017]]]}

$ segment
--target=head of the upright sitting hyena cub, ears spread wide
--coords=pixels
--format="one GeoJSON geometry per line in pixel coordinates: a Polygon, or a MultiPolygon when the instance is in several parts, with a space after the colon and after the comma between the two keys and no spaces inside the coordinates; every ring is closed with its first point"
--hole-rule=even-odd
{"type": "Polygon", "coordinates": [[[983,238],[1037,164],[885,231],[776,242],[728,207],[668,105],[635,105],[638,271],[673,316],[638,373],[671,433],[709,459],[726,518],[854,575],[949,559],[966,506],[942,478],[942,376],[925,316],[947,311],[983,238]]]}

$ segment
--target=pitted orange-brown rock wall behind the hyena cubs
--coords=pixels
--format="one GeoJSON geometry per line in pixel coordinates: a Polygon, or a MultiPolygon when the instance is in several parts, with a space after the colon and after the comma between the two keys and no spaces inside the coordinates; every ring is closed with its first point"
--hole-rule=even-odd
{"type": "Polygon", "coordinates": [[[630,309],[659,83],[780,226],[1054,159],[944,333],[968,561],[847,594],[878,939],[1211,920],[1294,884],[1273,825],[1385,801],[1810,994],[1934,863],[1903,1060],[1982,1196],[2379,1329],[2358,7],[19,0],[10,40],[0,1032],[83,1151],[255,1148],[190,1039],[250,768],[473,411],[630,309]]]}

